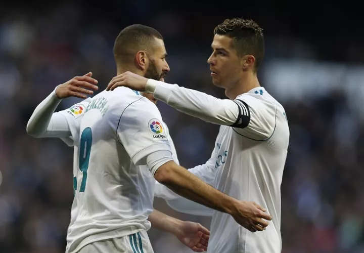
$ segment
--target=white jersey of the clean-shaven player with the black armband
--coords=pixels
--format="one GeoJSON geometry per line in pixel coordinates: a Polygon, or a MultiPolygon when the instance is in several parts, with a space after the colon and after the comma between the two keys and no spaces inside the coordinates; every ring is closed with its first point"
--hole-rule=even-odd
{"type": "Polygon", "coordinates": [[[238,96],[235,127],[220,126],[209,161],[190,172],[210,180],[216,189],[239,200],[255,201],[272,216],[262,232],[252,233],[232,216],[214,211],[208,252],[279,253],[281,183],[289,128],[285,110],[263,88],[238,96]]]}

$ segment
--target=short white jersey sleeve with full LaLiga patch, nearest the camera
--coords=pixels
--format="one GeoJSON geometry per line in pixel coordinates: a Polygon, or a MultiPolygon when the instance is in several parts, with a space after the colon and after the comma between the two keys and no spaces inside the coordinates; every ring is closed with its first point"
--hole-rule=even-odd
{"type": "Polygon", "coordinates": [[[149,101],[141,99],[127,106],[119,119],[117,137],[135,165],[147,165],[147,156],[160,150],[172,156],[160,112],[149,101]]]}

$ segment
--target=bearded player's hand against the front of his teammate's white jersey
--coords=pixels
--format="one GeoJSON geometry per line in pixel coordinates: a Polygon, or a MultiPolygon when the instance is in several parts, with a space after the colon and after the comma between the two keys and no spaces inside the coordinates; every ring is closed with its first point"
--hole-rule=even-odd
{"type": "Polygon", "coordinates": [[[238,201],[232,216],[235,221],[251,232],[263,231],[271,221],[271,216],[265,213],[266,209],[252,201],[238,201]]]}

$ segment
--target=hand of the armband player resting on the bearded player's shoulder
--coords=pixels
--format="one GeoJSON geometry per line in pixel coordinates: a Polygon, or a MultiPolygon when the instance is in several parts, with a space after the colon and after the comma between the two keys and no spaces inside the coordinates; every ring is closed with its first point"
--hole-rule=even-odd
{"type": "Polygon", "coordinates": [[[109,82],[106,90],[113,91],[117,87],[124,86],[135,91],[144,92],[147,81],[148,79],[144,76],[126,71],[120,75],[114,76],[109,82]]]}

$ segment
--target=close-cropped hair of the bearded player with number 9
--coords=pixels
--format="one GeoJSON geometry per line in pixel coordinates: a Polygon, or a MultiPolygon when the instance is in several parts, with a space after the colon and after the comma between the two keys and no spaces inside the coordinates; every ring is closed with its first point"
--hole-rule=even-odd
{"type": "Polygon", "coordinates": [[[128,60],[132,60],[138,51],[151,52],[155,38],[163,40],[162,35],[152,27],[140,24],[125,27],[115,39],[115,61],[128,63],[128,60]]]}

